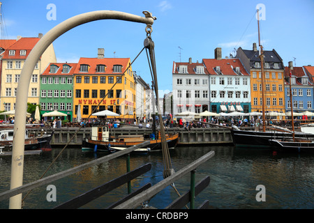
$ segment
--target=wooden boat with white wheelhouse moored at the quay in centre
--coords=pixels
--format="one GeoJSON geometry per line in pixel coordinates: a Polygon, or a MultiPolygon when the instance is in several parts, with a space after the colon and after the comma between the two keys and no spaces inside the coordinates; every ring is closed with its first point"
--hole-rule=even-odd
{"type": "MultiPolygon", "coordinates": [[[[168,148],[174,148],[177,145],[179,133],[166,134],[165,137],[168,148]]],[[[141,144],[144,141],[150,142],[147,148],[138,148],[135,152],[158,151],[162,148],[160,133],[156,137],[154,134],[129,134],[114,137],[110,134],[108,126],[93,126],[91,128],[91,135],[85,137],[82,141],[82,151],[105,151],[112,153],[141,144]]]]}

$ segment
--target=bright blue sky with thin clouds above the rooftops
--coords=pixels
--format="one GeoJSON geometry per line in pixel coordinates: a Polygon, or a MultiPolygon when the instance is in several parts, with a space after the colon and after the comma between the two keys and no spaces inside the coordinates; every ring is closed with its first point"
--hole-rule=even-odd
{"type": "MultiPolygon", "coordinates": [[[[95,10],[117,10],[142,17],[143,11],[149,11],[157,18],[151,39],[160,96],[172,91],[173,62],[214,59],[216,47],[222,48],[223,58],[235,55],[239,47],[252,49],[253,43],[258,43],[257,7],[264,50],[276,49],[285,66],[289,61],[295,66],[314,66],[314,0],[0,1],[2,39],[45,35],[64,20],[95,10]]],[[[105,49],[105,57],[133,61],[144,47],[145,27],[120,20],[82,24],[54,40],[57,62],[77,63],[80,57],[97,57],[98,48],[105,49]]],[[[145,51],[132,68],[151,84],[145,51]]]]}

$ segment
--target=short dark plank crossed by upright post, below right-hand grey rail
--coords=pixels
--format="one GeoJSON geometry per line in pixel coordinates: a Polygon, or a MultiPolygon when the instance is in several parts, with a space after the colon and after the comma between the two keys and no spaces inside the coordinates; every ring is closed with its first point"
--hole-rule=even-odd
{"type": "MultiPolygon", "coordinates": [[[[195,197],[209,185],[210,180],[210,177],[207,176],[197,183],[197,185],[195,185],[195,197]]],[[[170,205],[165,207],[165,209],[180,209],[183,208],[188,202],[190,202],[190,190],[188,190],[181,197],[175,199],[172,203],[170,203],[170,205]]]]}

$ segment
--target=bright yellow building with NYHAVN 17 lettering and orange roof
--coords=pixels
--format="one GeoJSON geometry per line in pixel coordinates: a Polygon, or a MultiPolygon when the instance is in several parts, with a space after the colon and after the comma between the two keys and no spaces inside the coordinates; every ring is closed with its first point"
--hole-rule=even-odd
{"type": "Polygon", "coordinates": [[[82,118],[103,110],[121,114],[114,117],[121,121],[136,118],[135,79],[129,58],[104,58],[103,49],[98,49],[97,58],[80,58],[73,84],[74,118],[78,105],[82,118]]]}

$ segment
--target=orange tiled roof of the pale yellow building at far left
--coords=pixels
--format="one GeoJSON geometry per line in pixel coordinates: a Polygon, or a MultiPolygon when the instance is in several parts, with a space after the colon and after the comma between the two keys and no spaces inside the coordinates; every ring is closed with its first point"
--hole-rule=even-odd
{"type": "Polygon", "coordinates": [[[31,52],[31,49],[38,43],[40,38],[25,38],[22,37],[19,40],[14,40],[15,43],[10,45],[3,53],[3,59],[26,59],[31,52]],[[15,50],[14,56],[9,56],[9,50],[15,50]],[[20,50],[26,50],[26,55],[21,56],[20,50]]]}

